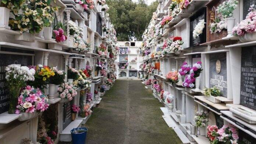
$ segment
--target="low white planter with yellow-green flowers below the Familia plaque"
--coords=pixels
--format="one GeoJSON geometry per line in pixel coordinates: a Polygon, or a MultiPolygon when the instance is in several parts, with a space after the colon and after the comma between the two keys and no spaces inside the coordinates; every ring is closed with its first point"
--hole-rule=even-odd
{"type": "Polygon", "coordinates": [[[216,97],[220,97],[220,90],[214,86],[211,88],[205,88],[203,89],[203,94],[206,96],[205,98],[213,103],[221,103],[220,100],[217,100],[216,97]]]}

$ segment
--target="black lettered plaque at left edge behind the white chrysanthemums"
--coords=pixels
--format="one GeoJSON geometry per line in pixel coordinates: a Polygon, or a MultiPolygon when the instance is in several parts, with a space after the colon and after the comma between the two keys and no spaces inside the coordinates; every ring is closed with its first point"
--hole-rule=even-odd
{"type": "Polygon", "coordinates": [[[5,79],[5,67],[10,64],[32,65],[33,56],[25,55],[26,53],[33,54],[32,51],[18,50],[14,48],[1,47],[1,51],[6,51],[9,54],[0,54],[0,114],[7,112],[9,109],[9,92],[5,79]],[[11,54],[23,53],[24,55],[11,54]]]}

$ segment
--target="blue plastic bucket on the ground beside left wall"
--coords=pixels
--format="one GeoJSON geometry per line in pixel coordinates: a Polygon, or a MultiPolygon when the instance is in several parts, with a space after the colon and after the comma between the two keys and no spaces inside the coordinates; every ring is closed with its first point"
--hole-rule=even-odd
{"type": "Polygon", "coordinates": [[[77,127],[71,131],[72,144],[85,144],[86,134],[88,129],[86,127],[77,127]]]}

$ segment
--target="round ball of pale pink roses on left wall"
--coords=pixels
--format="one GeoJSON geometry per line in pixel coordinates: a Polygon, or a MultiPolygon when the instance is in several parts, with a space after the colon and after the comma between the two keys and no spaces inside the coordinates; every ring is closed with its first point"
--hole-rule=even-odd
{"type": "Polygon", "coordinates": [[[75,89],[76,87],[74,87],[73,84],[65,82],[58,87],[57,91],[60,98],[65,98],[71,101],[73,97],[77,95],[77,91],[75,89]]]}

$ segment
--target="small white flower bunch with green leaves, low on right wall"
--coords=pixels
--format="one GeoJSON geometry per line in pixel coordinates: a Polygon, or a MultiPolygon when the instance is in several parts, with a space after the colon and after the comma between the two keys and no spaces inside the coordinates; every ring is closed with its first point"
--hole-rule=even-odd
{"type": "Polygon", "coordinates": [[[208,111],[201,110],[196,112],[194,117],[194,120],[196,123],[195,125],[197,127],[206,126],[206,123],[208,122],[208,116],[209,116],[208,111]]]}

